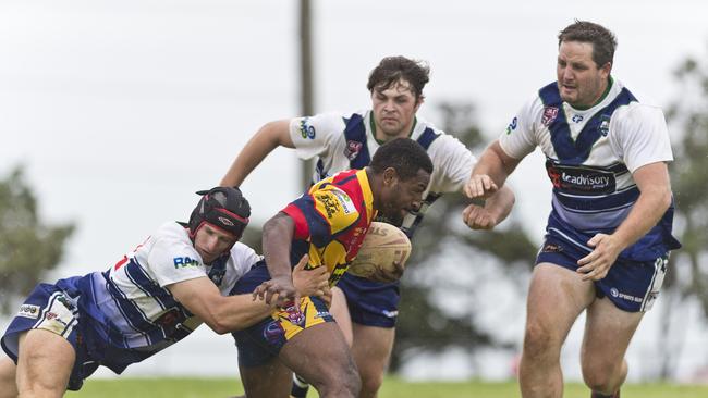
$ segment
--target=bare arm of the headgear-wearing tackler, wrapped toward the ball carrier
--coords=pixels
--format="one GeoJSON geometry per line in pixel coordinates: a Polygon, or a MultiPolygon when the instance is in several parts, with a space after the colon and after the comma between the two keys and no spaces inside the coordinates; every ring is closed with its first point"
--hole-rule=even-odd
{"type": "Polygon", "coordinates": [[[219,288],[206,276],[178,282],[167,288],[218,334],[252,326],[272,311],[263,300],[254,301],[252,295],[221,296],[219,288]]]}

